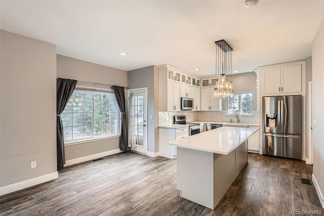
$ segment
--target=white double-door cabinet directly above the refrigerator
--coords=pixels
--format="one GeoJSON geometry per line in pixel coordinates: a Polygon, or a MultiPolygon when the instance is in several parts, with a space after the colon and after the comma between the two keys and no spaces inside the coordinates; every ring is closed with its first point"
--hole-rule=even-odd
{"type": "Polygon", "coordinates": [[[264,94],[301,91],[301,64],[264,69],[264,94]]]}

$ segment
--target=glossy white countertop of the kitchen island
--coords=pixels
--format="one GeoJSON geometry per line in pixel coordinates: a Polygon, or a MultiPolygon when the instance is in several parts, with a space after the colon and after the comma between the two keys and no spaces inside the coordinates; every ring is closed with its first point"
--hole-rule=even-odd
{"type": "Polygon", "coordinates": [[[228,155],[259,129],[220,127],[167,142],[167,145],[228,155]]]}

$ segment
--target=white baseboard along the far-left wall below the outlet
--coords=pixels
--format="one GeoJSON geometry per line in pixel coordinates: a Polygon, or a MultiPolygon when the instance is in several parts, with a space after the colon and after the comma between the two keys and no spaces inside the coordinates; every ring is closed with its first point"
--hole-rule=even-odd
{"type": "Polygon", "coordinates": [[[53,179],[58,178],[58,176],[59,176],[58,172],[53,172],[50,174],[46,174],[46,175],[28,179],[26,181],[22,181],[22,182],[18,182],[18,183],[12,184],[12,185],[7,185],[4,187],[1,187],[0,188],[0,196],[51,181],[53,179]]]}

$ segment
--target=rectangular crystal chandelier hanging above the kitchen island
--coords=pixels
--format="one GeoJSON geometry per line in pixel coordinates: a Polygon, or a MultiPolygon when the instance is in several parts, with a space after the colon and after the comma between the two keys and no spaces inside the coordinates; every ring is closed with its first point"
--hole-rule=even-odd
{"type": "Polygon", "coordinates": [[[232,98],[232,51],[226,41],[216,41],[216,88],[214,97],[232,98]]]}

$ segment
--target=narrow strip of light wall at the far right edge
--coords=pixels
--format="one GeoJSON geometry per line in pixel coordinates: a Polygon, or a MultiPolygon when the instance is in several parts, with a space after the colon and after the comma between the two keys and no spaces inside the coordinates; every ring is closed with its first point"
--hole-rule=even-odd
{"type": "MultiPolygon", "coordinates": [[[[313,81],[313,176],[319,190],[324,194],[324,20],[312,43],[312,81],[313,81]]],[[[324,207],[324,200],[321,200],[324,207]]]]}

